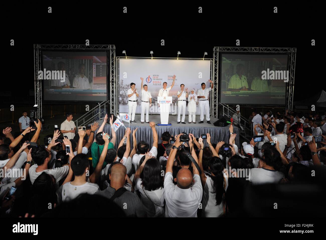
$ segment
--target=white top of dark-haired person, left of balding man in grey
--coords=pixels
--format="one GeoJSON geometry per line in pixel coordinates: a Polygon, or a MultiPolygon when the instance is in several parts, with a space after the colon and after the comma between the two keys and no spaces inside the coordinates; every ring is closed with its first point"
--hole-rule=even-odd
{"type": "Polygon", "coordinates": [[[69,201],[77,198],[82,193],[94,194],[100,191],[100,187],[95,183],[88,183],[76,186],[71,182],[65,183],[62,188],[62,201],[69,201]]]}

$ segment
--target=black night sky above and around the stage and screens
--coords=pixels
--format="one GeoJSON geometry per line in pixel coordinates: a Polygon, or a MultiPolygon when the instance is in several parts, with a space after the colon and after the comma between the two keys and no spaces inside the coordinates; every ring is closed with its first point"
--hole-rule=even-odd
{"type": "Polygon", "coordinates": [[[318,5],[97,1],[11,4],[3,8],[1,107],[34,104],[33,44],[114,44],[116,56],[213,58],[214,46],[296,47],[294,101],[325,89],[322,8],[318,5]],[[48,7],[52,13],[48,13],[48,7]],[[123,13],[123,7],[127,13],[123,13]],[[198,7],[203,13],[198,13],[198,7]],[[278,13],[274,13],[278,7],[278,13]],[[15,45],[10,46],[10,40],[15,45]],[[161,39],[165,46],[161,46],[161,39]],[[311,46],[311,40],[316,46],[311,46]],[[11,96],[3,96],[11,91],[11,96]]]}

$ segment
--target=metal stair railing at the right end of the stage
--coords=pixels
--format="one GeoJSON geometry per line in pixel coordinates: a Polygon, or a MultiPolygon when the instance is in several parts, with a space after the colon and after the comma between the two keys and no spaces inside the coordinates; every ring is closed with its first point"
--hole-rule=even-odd
{"type": "MultiPolygon", "coordinates": [[[[227,116],[228,118],[232,118],[233,114],[237,114],[237,112],[235,110],[233,110],[231,107],[229,107],[228,105],[225,104],[221,104],[218,103],[219,105],[219,110],[222,112],[220,112],[220,118],[223,116],[227,116]]],[[[237,115],[238,116],[238,115],[237,115]]],[[[239,116],[238,116],[239,118],[239,116]]],[[[252,137],[252,123],[248,122],[247,119],[245,119],[243,116],[240,115],[240,122],[239,122],[239,134],[240,136],[242,136],[243,138],[245,138],[247,141],[251,140],[252,137]]]]}

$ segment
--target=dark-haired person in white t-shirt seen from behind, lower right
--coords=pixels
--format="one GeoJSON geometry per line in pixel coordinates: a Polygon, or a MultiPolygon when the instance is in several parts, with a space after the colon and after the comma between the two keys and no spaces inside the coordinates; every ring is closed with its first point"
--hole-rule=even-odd
{"type": "Polygon", "coordinates": [[[276,170],[282,166],[280,153],[274,147],[267,148],[261,160],[262,168],[251,168],[249,181],[254,185],[279,183],[284,178],[284,174],[276,170]]]}

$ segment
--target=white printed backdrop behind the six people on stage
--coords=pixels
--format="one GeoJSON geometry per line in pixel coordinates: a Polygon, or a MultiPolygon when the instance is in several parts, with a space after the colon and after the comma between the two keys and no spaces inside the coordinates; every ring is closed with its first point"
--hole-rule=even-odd
{"type": "MultiPolygon", "coordinates": [[[[201,83],[205,83],[209,87],[208,80],[211,76],[211,60],[171,60],[171,59],[119,59],[119,112],[128,112],[128,96],[127,91],[130,83],[135,83],[139,97],[137,98],[136,113],[141,113],[141,77],[144,78],[143,84],[148,86],[148,91],[152,95],[152,107],[150,113],[159,113],[157,107],[157,95],[159,89],[163,88],[163,82],[168,83],[168,87],[172,84],[173,74],[176,75],[173,88],[170,90],[169,96],[173,97],[170,113],[177,113],[177,91],[180,85],[184,84],[188,93],[191,89],[200,89],[201,83]]],[[[211,91],[212,94],[213,90],[211,91]]],[[[211,96],[210,94],[210,96],[211,96]]],[[[198,101],[199,102],[199,101],[198,101]]],[[[197,102],[197,106],[198,106],[197,102]]],[[[197,114],[200,114],[199,106],[197,114]]],[[[188,111],[186,111],[188,114],[188,111]]]]}

